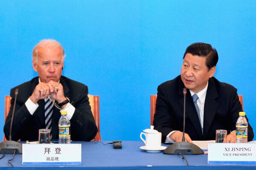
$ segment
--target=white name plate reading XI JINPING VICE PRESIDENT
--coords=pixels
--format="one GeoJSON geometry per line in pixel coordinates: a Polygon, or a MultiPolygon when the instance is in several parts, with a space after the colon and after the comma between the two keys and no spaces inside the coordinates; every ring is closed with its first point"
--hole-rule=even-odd
{"type": "Polygon", "coordinates": [[[209,143],[208,164],[256,164],[256,144],[209,143]]]}

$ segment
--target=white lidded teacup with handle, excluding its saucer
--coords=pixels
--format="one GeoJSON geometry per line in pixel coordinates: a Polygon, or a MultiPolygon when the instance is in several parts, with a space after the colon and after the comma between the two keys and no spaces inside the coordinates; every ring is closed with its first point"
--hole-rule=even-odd
{"type": "MultiPolygon", "coordinates": [[[[154,126],[153,126],[154,128],[154,126]]],[[[145,143],[145,146],[148,150],[159,150],[161,148],[161,141],[162,141],[162,133],[158,132],[157,130],[154,130],[151,128],[151,131],[149,129],[143,130],[146,133],[141,132],[140,133],[140,139],[143,140],[145,143]],[[149,132],[149,133],[147,133],[149,132]],[[150,133],[152,132],[152,133],[150,133]],[[143,139],[142,135],[145,135],[145,140],[143,139]]]]}

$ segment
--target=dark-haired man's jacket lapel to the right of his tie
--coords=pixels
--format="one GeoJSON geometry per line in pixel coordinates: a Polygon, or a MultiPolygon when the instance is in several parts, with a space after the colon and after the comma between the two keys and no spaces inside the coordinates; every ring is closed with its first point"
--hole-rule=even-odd
{"type": "Polygon", "coordinates": [[[218,97],[218,92],[215,87],[215,83],[212,79],[209,79],[207,93],[204,102],[204,136],[203,139],[207,138],[209,128],[214,119],[219,103],[215,101],[218,97]]]}

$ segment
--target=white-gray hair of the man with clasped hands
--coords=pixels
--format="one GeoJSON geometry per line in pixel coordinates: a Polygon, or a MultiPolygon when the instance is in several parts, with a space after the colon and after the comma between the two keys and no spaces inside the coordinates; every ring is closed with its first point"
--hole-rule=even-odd
{"type": "Polygon", "coordinates": [[[40,47],[60,47],[61,48],[61,57],[62,57],[62,62],[64,61],[64,58],[65,58],[65,52],[64,52],[64,49],[63,47],[61,46],[61,44],[56,41],[56,40],[51,40],[51,39],[48,39],[48,40],[41,40],[37,45],[35,45],[34,49],[33,49],[33,52],[32,52],[32,58],[34,60],[35,63],[38,62],[38,48],[40,47]]]}

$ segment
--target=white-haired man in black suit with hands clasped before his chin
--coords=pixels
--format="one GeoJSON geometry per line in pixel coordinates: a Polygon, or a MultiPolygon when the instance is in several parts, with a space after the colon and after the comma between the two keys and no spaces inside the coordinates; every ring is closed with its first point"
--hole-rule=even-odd
{"type": "Polygon", "coordinates": [[[44,128],[51,130],[52,139],[58,139],[60,110],[67,111],[71,140],[92,140],[97,127],[89,105],[88,88],[61,76],[65,57],[61,44],[42,40],[35,46],[32,57],[39,77],[11,89],[11,108],[4,126],[6,138],[9,139],[15,89],[18,88],[12,140],[38,140],[38,130],[44,128]]]}

